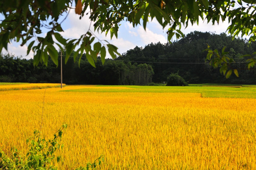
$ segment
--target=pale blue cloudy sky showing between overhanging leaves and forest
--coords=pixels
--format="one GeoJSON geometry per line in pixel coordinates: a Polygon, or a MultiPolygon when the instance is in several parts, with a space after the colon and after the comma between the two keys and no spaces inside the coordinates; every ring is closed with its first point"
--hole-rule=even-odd
{"type": "MultiPolygon", "coordinates": [[[[70,13],[67,17],[67,19],[62,23],[62,28],[64,32],[61,34],[65,38],[79,38],[81,34],[85,34],[85,32],[88,30],[90,25],[90,21],[88,17],[83,17],[81,20],[79,19],[79,15],[75,14],[74,9],[70,10],[70,13]]],[[[93,24],[92,24],[93,25],[93,24]]],[[[193,31],[202,31],[202,32],[213,32],[216,34],[220,34],[222,32],[226,32],[228,27],[228,23],[220,23],[219,25],[213,26],[212,23],[207,24],[207,22],[199,22],[199,25],[191,26],[189,25],[186,29],[184,27],[182,28],[182,32],[184,34],[188,34],[193,31]]],[[[168,29],[168,28],[166,28],[168,29]]],[[[94,28],[91,26],[91,30],[94,30],[94,28]]],[[[116,39],[114,36],[112,40],[110,39],[110,34],[105,36],[105,33],[99,34],[94,33],[99,39],[101,40],[107,40],[110,43],[116,45],[119,48],[119,53],[124,53],[128,51],[129,49],[133,49],[134,47],[145,47],[145,45],[153,42],[161,42],[166,43],[167,42],[167,34],[166,30],[163,30],[160,24],[153,19],[153,21],[149,22],[147,24],[146,30],[144,30],[143,26],[136,26],[135,28],[132,26],[132,24],[128,22],[122,22],[121,26],[119,27],[118,32],[118,39],[116,39]]],[[[175,37],[174,37],[175,39],[175,37]]],[[[30,52],[28,56],[26,56],[26,48],[27,45],[24,45],[23,47],[19,46],[17,43],[13,42],[9,44],[8,46],[8,52],[11,54],[14,54],[15,56],[21,56],[26,59],[33,58],[33,53],[30,52]]],[[[7,51],[2,51],[3,53],[6,53],[7,51]]],[[[107,55],[107,57],[110,57],[107,55]]]]}

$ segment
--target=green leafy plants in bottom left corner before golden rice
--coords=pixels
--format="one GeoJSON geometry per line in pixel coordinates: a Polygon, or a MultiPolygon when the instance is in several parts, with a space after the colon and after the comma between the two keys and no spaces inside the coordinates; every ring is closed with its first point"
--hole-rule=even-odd
{"type": "MultiPolygon", "coordinates": [[[[29,148],[26,155],[16,148],[11,149],[10,157],[0,151],[0,170],[58,170],[55,163],[61,161],[61,156],[56,155],[55,151],[63,148],[60,142],[66,128],[67,125],[63,124],[51,140],[45,140],[38,130],[34,130],[34,136],[26,140],[29,148]]],[[[100,156],[94,163],[87,163],[76,170],[93,170],[102,161],[103,156],[100,156]]]]}

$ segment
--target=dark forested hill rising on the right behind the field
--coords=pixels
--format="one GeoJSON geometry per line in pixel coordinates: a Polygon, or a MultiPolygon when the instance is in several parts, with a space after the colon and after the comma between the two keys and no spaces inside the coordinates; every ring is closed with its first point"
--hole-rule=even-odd
{"type": "Polygon", "coordinates": [[[252,54],[256,51],[256,43],[248,44],[243,39],[226,34],[213,34],[209,32],[191,32],[184,38],[173,43],[151,43],[144,48],[135,47],[127,51],[118,60],[131,63],[147,63],[154,69],[153,82],[160,83],[166,80],[171,73],[177,73],[188,83],[228,83],[228,84],[256,84],[256,70],[248,70],[246,58],[242,55],[252,54]],[[226,79],[220,74],[219,68],[213,68],[209,62],[205,62],[207,44],[211,49],[226,46],[229,57],[236,63],[232,66],[239,70],[239,77],[234,75],[226,79]]]}

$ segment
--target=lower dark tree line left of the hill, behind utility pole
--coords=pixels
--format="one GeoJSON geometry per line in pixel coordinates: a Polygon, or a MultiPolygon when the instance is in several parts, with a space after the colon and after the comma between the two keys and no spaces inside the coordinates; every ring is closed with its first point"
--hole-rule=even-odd
{"type": "MultiPolygon", "coordinates": [[[[98,58],[94,68],[86,60],[85,54],[81,58],[80,66],[78,61],[74,62],[72,56],[67,64],[63,64],[63,83],[66,84],[147,85],[152,82],[153,75],[151,65],[112,59],[106,59],[102,65],[98,58]]],[[[33,59],[1,54],[0,82],[59,83],[60,65],[56,67],[49,59],[47,66],[41,63],[34,66],[33,59]]]]}

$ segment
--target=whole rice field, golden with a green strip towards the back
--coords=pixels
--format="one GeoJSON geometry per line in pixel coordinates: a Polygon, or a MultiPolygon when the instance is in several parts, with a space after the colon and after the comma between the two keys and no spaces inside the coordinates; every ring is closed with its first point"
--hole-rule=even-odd
{"type": "Polygon", "coordinates": [[[0,147],[62,123],[60,170],[255,170],[256,87],[77,85],[0,91],[0,147]],[[44,98],[45,92],[45,98],[44,98]],[[238,98],[229,98],[235,96],[238,98]],[[44,98],[44,108],[43,108],[44,98]]]}

